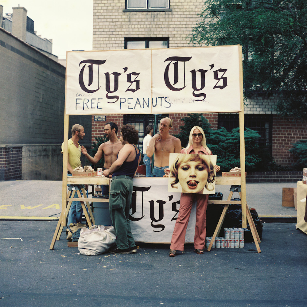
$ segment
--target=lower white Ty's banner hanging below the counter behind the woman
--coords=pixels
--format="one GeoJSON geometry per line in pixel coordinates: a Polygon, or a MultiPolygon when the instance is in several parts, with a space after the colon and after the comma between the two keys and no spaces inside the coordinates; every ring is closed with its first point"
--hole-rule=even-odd
{"type": "MultiPolygon", "coordinates": [[[[170,243],[179,212],[181,193],[167,191],[168,178],[140,177],[133,179],[133,205],[130,225],[135,241],[170,243]]],[[[185,236],[194,242],[196,205],[193,205],[185,236]]]]}

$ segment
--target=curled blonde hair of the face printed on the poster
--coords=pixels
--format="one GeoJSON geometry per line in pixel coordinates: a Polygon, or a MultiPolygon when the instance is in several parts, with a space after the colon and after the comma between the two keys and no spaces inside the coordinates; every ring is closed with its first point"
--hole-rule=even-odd
{"type": "Polygon", "coordinates": [[[204,165],[208,166],[208,179],[207,179],[205,188],[208,191],[212,191],[213,186],[210,190],[208,185],[215,181],[216,173],[215,173],[214,165],[211,162],[209,155],[204,155],[204,154],[199,155],[199,154],[192,154],[192,153],[191,154],[179,153],[177,158],[175,159],[175,161],[173,162],[173,164],[171,165],[171,168],[170,168],[170,177],[173,178],[173,181],[171,182],[171,187],[177,188],[174,185],[177,185],[177,183],[179,182],[178,168],[179,168],[181,163],[185,163],[185,162],[188,162],[188,161],[195,161],[195,162],[201,161],[204,165]]]}

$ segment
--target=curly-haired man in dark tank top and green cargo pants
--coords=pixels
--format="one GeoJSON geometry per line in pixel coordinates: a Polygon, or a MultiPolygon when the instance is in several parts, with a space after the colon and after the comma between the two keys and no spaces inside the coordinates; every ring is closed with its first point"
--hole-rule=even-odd
{"type": "Polygon", "coordinates": [[[134,126],[124,125],[121,129],[122,149],[109,169],[103,171],[108,177],[113,173],[109,196],[109,210],[116,233],[116,246],[112,254],[136,253],[136,245],[131,233],[129,211],[132,203],[132,178],[135,176],[141,155],[134,145],[138,143],[138,130],[134,126]]]}

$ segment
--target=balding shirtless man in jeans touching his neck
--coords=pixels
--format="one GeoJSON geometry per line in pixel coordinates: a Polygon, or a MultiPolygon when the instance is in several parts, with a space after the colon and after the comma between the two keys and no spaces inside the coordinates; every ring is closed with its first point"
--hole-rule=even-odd
{"type": "Polygon", "coordinates": [[[173,126],[171,119],[162,118],[159,126],[159,133],[155,134],[146,149],[148,157],[154,154],[153,172],[151,177],[163,177],[165,169],[169,168],[169,154],[180,153],[181,141],[179,138],[169,134],[173,126]]]}

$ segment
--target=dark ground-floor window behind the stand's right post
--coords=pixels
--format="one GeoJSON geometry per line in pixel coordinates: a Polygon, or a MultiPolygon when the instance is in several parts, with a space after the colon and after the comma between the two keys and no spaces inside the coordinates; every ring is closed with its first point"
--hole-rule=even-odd
{"type": "MultiPolygon", "coordinates": [[[[244,114],[244,127],[256,130],[260,134],[259,145],[272,153],[272,115],[244,114]]],[[[219,114],[218,127],[224,127],[227,131],[239,127],[239,114],[219,114]]]]}

